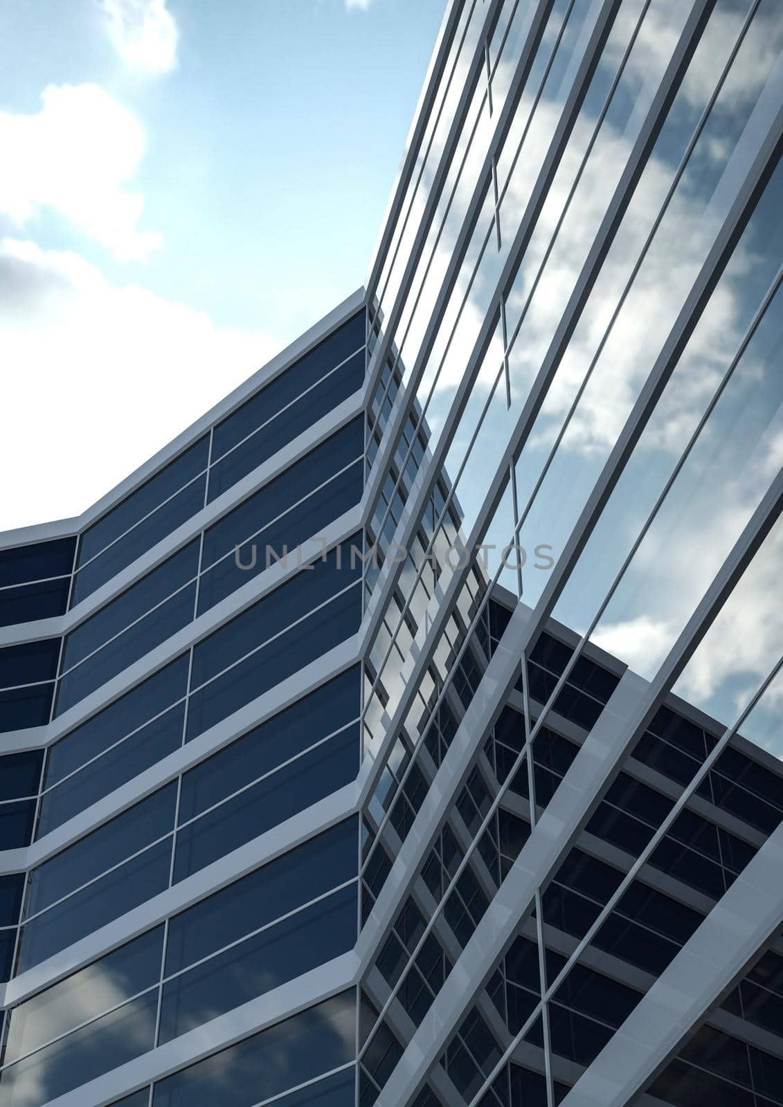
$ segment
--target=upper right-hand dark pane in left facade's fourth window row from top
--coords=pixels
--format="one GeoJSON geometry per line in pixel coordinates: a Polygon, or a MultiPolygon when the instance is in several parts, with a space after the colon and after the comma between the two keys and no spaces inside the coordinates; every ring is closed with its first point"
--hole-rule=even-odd
{"type": "Polygon", "coordinates": [[[192,819],[359,715],[354,665],[185,773],[179,821],[192,819]]]}

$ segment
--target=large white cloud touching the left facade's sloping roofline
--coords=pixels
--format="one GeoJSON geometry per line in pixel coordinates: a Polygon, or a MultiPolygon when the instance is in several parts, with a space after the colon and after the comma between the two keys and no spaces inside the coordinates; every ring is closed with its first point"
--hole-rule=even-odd
{"type": "Polygon", "coordinates": [[[0,529],[80,514],[278,349],[75,254],[0,241],[0,529]]]}

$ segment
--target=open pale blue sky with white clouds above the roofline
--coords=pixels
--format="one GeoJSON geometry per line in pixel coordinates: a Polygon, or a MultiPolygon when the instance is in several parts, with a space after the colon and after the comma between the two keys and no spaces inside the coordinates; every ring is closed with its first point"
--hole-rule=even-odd
{"type": "Polygon", "coordinates": [[[444,0],[3,0],[0,528],[80,513],[365,278],[444,0]]]}

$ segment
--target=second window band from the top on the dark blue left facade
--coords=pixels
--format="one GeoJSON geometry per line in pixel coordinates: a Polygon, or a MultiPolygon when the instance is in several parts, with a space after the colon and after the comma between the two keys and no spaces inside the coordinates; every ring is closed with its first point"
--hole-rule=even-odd
{"type": "Polygon", "coordinates": [[[55,715],[266,568],[295,567],[299,544],[354,507],[362,487],[359,418],[68,634],[60,661],[60,639],[0,650],[1,725],[49,721],[58,668],[55,715]]]}

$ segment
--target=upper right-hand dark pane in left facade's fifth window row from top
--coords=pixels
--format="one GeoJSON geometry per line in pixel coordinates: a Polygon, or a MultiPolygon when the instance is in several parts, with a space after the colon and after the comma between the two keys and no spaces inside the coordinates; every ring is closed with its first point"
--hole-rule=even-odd
{"type": "Polygon", "coordinates": [[[350,818],[174,915],[166,975],[351,880],[357,863],[357,820],[350,818]]]}

